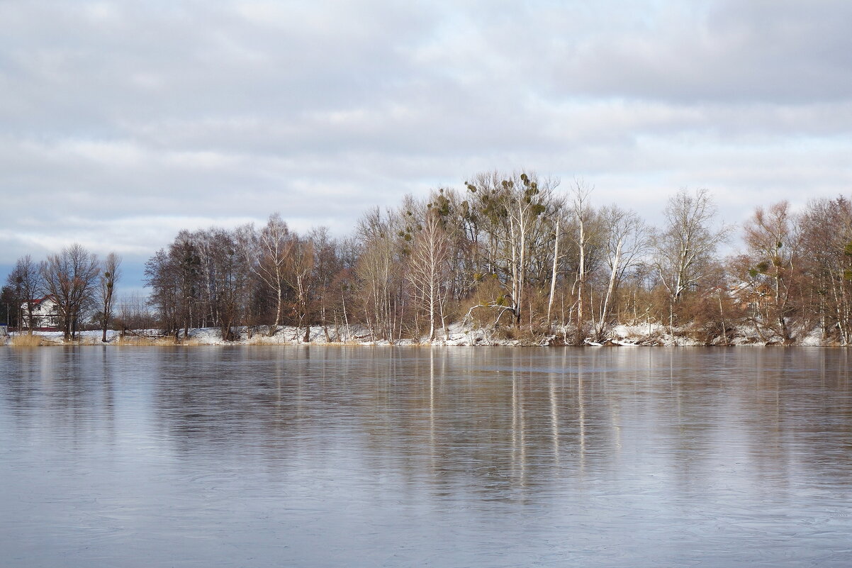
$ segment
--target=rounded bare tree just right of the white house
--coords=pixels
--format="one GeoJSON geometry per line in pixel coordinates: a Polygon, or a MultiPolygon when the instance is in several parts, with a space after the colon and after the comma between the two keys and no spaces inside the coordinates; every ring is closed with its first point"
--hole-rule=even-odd
{"type": "Polygon", "coordinates": [[[99,266],[97,256],[77,243],[48,255],[41,266],[44,287],[55,298],[66,341],[73,339],[79,317],[92,302],[99,266]]]}

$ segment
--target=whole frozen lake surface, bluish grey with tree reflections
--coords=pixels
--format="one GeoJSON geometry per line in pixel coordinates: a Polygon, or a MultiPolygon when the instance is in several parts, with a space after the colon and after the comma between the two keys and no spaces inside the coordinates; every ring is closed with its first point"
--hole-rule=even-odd
{"type": "Polygon", "coordinates": [[[3,566],[850,566],[849,351],[0,349],[3,566]]]}

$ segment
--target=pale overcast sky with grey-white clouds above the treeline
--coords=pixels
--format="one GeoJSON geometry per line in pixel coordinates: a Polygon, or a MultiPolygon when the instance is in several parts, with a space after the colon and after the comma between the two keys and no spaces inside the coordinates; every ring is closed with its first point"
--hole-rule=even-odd
{"type": "Polygon", "coordinates": [[[652,222],[849,195],[850,54],[844,1],[0,0],[0,265],[78,241],[138,280],[178,229],[343,235],[494,169],[652,222]]]}

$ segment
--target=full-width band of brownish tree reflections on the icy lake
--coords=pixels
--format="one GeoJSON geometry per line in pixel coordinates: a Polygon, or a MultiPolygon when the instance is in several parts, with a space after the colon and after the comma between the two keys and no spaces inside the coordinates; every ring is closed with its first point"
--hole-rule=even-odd
{"type": "Polygon", "coordinates": [[[629,479],[694,495],[736,478],[759,496],[852,476],[839,349],[44,348],[4,360],[3,413],[21,432],[47,425],[81,443],[137,420],[178,456],[352,471],[439,496],[629,479]]]}

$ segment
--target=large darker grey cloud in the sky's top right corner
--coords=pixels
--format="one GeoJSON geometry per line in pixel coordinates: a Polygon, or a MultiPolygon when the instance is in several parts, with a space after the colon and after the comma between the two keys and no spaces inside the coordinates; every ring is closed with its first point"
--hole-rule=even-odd
{"type": "Polygon", "coordinates": [[[561,92],[662,101],[809,103],[852,95],[852,5],[664,4],[646,26],[567,46],[561,92]]]}

